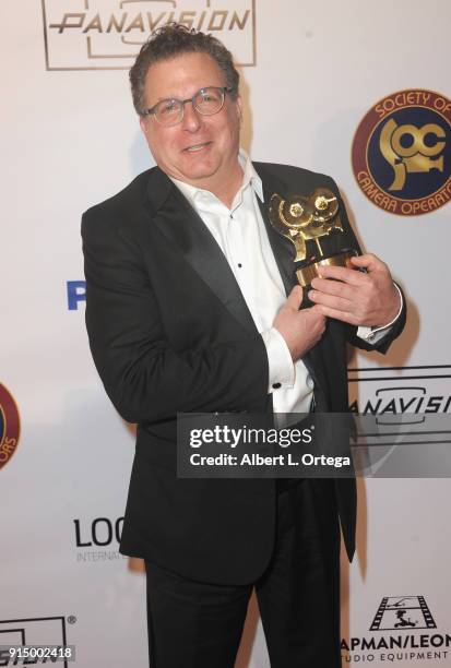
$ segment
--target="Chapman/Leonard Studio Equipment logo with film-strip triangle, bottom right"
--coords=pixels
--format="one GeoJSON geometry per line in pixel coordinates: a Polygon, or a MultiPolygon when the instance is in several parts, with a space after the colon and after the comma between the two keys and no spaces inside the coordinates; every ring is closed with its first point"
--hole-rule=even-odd
{"type": "Polygon", "coordinates": [[[451,635],[437,630],[424,596],[385,596],[370,635],[342,639],[342,664],[447,660],[451,635]]]}

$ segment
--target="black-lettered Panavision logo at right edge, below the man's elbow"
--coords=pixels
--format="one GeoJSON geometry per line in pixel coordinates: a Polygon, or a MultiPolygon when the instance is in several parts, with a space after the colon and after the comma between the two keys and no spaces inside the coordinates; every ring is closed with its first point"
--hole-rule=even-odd
{"type": "Polygon", "coordinates": [[[367,477],[451,475],[451,365],[348,369],[355,466],[367,477]]]}

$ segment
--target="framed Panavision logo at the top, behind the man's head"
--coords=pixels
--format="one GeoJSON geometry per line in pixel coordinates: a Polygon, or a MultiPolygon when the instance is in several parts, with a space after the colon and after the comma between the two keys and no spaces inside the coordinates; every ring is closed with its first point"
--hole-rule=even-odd
{"type": "Polygon", "coordinates": [[[176,21],[256,64],[256,0],[41,0],[47,70],[129,69],[147,37],[176,21]]]}

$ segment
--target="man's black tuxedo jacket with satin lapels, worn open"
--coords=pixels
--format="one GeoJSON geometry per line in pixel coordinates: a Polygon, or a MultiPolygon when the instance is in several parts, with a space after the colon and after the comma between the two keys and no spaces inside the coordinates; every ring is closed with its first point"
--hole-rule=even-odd
{"type": "MultiPolygon", "coordinates": [[[[273,192],[336,191],[327,176],[254,164],[273,192]]],[[[345,246],[358,248],[341,203],[345,246]]],[[[263,219],[288,293],[293,250],[263,219]]],[[[86,325],[95,365],[120,415],[138,424],[121,551],[204,582],[249,583],[274,542],[275,485],[269,479],[176,477],[176,414],[272,409],[266,350],[219,247],[158,168],[88,210],[82,222],[86,325]]],[[[330,250],[344,239],[330,239],[330,250]]],[[[385,350],[400,318],[377,346],[385,350]]],[[[347,410],[346,342],[371,348],[355,327],[329,321],[304,361],[318,411],[347,410]]],[[[336,480],[349,558],[354,480],[336,480]]]]}

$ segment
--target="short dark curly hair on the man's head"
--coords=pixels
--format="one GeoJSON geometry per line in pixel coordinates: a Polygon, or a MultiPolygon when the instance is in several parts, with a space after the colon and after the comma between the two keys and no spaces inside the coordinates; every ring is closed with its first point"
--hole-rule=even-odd
{"type": "Polygon", "coordinates": [[[144,83],[149,68],[159,60],[192,52],[211,56],[223,71],[225,84],[232,88],[232,97],[238,95],[239,74],[230,51],[212,35],[190,29],[180,23],[167,23],[152,33],[129,72],[133,105],[140,116],[145,109],[144,83]]]}

